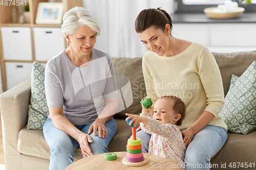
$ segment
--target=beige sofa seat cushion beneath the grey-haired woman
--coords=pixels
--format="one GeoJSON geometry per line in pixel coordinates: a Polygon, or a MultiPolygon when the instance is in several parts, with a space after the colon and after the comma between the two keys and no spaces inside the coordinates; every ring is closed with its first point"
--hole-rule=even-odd
{"type": "MultiPolygon", "coordinates": [[[[109,144],[109,152],[119,152],[126,150],[127,139],[132,135],[132,128],[123,118],[116,118],[117,132],[109,144]],[[117,144],[118,143],[118,144],[117,144]]],[[[139,124],[137,124],[138,127],[139,124]]],[[[18,151],[21,154],[49,159],[50,147],[45,140],[42,130],[28,130],[27,127],[19,131],[18,151]]],[[[81,149],[75,150],[74,161],[82,158],[81,149]]]]}

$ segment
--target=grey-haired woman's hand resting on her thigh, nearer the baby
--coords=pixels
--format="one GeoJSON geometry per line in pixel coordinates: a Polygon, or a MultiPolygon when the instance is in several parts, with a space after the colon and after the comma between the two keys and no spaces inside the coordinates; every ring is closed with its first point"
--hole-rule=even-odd
{"type": "Polygon", "coordinates": [[[103,118],[97,117],[90,126],[88,130],[88,135],[90,135],[93,131],[94,136],[96,136],[98,131],[99,137],[105,138],[106,136],[108,136],[108,131],[105,128],[105,123],[106,122],[103,118]]]}

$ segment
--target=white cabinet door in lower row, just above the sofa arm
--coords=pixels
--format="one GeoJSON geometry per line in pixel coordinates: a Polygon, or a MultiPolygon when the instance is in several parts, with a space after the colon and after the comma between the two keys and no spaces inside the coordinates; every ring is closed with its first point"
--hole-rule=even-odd
{"type": "Polygon", "coordinates": [[[7,90],[31,77],[33,63],[5,62],[7,90]]]}

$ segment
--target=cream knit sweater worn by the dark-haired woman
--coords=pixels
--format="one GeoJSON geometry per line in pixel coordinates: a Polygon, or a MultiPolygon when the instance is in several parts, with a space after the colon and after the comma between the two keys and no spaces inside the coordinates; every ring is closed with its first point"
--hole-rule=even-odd
{"type": "Polygon", "coordinates": [[[186,105],[186,117],[180,130],[187,129],[204,110],[215,118],[209,125],[226,124],[219,115],[224,105],[224,92],[219,67],[208,48],[191,43],[180,54],[172,57],[158,56],[148,51],[142,59],[147,97],[153,101],[163,95],[178,96],[186,105]]]}

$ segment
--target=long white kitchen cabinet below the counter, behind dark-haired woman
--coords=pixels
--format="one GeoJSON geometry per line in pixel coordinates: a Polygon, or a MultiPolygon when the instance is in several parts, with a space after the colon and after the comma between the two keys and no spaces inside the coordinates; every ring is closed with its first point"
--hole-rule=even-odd
{"type": "Polygon", "coordinates": [[[172,34],[204,44],[211,52],[256,50],[256,23],[173,23],[172,34]]]}

